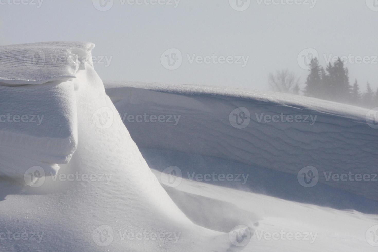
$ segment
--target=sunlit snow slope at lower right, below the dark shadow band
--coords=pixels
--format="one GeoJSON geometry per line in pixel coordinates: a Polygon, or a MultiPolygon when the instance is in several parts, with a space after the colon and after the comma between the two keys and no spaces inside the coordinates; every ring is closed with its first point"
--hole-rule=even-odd
{"type": "MultiPolygon", "coordinates": [[[[155,173],[161,178],[160,172],[155,173]]],[[[378,223],[378,215],[294,203],[187,179],[173,189],[166,189],[181,209],[197,215],[191,216],[194,221],[202,221],[213,228],[243,225],[248,213],[258,216],[254,230],[245,237],[248,242],[243,251],[376,251],[376,247],[367,242],[366,235],[367,230],[378,223]],[[203,211],[195,211],[198,205],[203,211]],[[293,235],[297,235],[297,239],[293,235]]]]}

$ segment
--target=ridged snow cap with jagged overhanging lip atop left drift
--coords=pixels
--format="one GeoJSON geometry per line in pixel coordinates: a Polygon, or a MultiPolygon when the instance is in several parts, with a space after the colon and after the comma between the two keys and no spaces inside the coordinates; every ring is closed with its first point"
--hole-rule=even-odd
{"type": "Polygon", "coordinates": [[[42,84],[75,78],[84,63],[93,66],[93,43],[44,42],[1,46],[0,85],[42,84]]]}

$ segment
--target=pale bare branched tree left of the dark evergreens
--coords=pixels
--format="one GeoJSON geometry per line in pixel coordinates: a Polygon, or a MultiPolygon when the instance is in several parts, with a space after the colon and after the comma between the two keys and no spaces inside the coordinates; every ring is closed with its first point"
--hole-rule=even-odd
{"type": "Polygon", "coordinates": [[[268,83],[273,91],[299,94],[299,77],[287,69],[270,73],[268,83]]]}

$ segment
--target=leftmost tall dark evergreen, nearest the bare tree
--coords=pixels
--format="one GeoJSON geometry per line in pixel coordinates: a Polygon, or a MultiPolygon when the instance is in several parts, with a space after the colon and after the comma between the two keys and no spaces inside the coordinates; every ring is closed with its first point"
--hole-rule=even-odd
{"type": "Polygon", "coordinates": [[[306,79],[305,95],[310,97],[321,97],[320,85],[321,85],[321,75],[318,65],[318,59],[311,59],[310,62],[310,73],[306,79]]]}

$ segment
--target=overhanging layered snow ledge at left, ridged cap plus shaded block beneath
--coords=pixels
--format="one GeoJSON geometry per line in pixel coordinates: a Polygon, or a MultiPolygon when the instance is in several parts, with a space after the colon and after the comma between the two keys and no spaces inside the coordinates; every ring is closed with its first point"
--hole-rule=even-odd
{"type": "Polygon", "coordinates": [[[75,77],[85,63],[79,59],[90,57],[93,46],[63,42],[1,46],[0,176],[23,182],[30,167],[43,167],[47,175],[54,175],[58,164],[70,161],[77,147],[75,87],[62,81],[75,77]],[[45,83],[51,80],[56,81],[45,83]]]}

